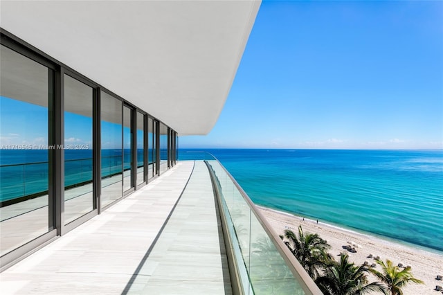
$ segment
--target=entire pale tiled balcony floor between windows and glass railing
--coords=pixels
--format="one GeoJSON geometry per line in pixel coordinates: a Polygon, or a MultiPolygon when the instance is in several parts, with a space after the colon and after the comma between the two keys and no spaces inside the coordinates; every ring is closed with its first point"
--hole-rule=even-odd
{"type": "Polygon", "coordinates": [[[3,271],[0,285],[1,294],[231,294],[205,163],[179,161],[3,271]]]}

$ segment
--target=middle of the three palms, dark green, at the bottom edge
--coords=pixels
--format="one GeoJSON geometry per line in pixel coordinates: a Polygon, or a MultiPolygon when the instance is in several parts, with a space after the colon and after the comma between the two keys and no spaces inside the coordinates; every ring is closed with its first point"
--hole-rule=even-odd
{"type": "Polygon", "coordinates": [[[316,279],[316,284],[325,295],[354,295],[372,291],[384,293],[383,285],[378,282],[368,284],[365,265],[356,266],[348,261],[349,256],[341,253],[340,261],[332,260],[324,269],[323,276],[316,279]]]}

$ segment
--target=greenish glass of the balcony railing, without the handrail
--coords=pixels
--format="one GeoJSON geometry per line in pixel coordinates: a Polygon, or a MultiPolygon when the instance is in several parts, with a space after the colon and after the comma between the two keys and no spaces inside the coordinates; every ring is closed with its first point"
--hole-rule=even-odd
{"type": "Polygon", "coordinates": [[[221,191],[244,294],[305,294],[246,199],[218,161],[208,161],[221,191]]]}

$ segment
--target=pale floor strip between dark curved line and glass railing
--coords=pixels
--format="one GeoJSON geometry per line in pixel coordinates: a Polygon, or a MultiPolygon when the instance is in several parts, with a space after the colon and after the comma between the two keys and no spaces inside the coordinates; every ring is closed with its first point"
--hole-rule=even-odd
{"type": "Polygon", "coordinates": [[[231,294],[213,187],[197,161],[177,208],[128,294],[231,294]]]}

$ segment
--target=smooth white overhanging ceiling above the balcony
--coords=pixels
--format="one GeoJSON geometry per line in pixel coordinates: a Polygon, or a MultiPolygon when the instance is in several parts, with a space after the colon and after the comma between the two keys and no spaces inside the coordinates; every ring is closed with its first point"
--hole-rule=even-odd
{"type": "Polygon", "coordinates": [[[260,1],[0,1],[0,26],[169,125],[215,125],[260,1]]]}

